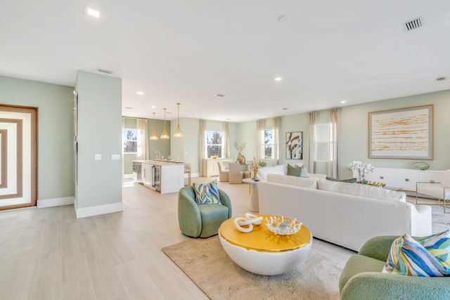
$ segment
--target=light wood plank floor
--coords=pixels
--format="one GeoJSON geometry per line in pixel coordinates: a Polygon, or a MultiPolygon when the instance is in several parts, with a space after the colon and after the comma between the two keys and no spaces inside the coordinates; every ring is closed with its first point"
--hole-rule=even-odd
{"type": "MultiPolygon", "coordinates": [[[[205,183],[214,178],[192,178],[205,183]]],[[[250,212],[247,184],[219,183],[233,216],[250,212]]],[[[124,211],[76,219],[72,205],[0,212],[1,299],[207,299],[161,248],[187,240],[177,193],[125,181],[124,211]]],[[[354,252],[314,240],[345,263],[354,252]]]]}

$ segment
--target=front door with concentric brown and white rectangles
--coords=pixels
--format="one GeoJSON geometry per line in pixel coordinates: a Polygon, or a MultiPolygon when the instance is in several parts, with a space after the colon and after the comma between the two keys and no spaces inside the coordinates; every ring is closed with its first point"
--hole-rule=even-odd
{"type": "Polygon", "coordinates": [[[0,104],[0,210],[37,200],[37,107],[0,104]]]}

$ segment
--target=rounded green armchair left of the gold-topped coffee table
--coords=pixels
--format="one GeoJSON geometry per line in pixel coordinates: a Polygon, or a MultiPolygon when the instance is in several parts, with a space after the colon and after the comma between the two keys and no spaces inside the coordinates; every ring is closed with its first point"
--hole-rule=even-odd
{"type": "Polygon", "coordinates": [[[219,189],[221,204],[197,204],[192,185],[178,193],[178,223],[181,233],[189,237],[217,235],[221,223],[231,218],[231,201],[219,189]]]}

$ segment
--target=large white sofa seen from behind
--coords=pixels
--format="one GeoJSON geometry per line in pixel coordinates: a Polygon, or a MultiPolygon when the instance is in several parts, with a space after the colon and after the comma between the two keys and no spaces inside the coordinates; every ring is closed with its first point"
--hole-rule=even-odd
{"type": "Polygon", "coordinates": [[[314,237],[354,251],[378,235],[431,234],[431,207],[406,202],[403,192],[282,174],[258,188],[259,214],[295,218],[314,237]]]}

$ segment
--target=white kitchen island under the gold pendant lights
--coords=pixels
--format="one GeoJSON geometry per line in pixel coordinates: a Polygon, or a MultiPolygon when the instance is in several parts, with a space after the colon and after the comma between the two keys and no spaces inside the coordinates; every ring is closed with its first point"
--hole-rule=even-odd
{"type": "Polygon", "coordinates": [[[184,162],[134,160],[133,164],[134,180],[147,188],[166,194],[177,193],[184,186],[184,162]]]}

